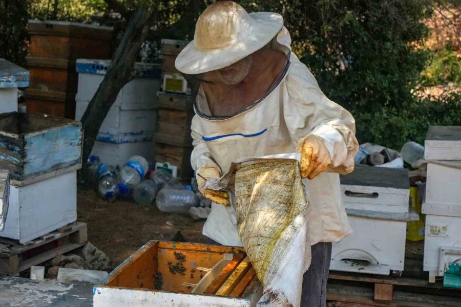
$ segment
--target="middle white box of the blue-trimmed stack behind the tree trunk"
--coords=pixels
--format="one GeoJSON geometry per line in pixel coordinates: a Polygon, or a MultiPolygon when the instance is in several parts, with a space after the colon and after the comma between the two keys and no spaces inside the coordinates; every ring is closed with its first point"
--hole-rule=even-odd
{"type": "MultiPolygon", "coordinates": [[[[77,101],[75,120],[80,120],[89,102],[77,101]]],[[[123,109],[112,106],[99,128],[96,140],[110,143],[152,141],[157,126],[157,109],[123,109]]]]}

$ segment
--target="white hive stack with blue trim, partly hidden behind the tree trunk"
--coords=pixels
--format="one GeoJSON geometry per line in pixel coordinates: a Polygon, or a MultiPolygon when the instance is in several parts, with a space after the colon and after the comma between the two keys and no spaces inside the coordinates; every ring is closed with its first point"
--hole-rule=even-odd
{"type": "MultiPolygon", "coordinates": [[[[109,64],[109,60],[77,60],[76,120],[85,113],[109,64]]],[[[155,150],[160,67],[136,63],[135,75],[118,93],[96,137],[92,153],[104,163],[122,166],[131,156],[150,158],[155,150]]]]}

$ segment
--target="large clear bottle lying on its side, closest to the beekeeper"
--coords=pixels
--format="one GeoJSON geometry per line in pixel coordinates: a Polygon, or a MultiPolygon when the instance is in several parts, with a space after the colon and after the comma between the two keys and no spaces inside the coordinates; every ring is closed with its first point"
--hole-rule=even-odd
{"type": "Polygon", "coordinates": [[[190,190],[164,188],[157,194],[157,207],[162,212],[188,213],[191,207],[197,207],[195,193],[190,190]]]}

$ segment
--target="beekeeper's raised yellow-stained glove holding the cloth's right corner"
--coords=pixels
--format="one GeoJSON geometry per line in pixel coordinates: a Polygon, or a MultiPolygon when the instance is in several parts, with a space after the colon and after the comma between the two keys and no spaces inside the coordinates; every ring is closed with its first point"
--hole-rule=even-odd
{"type": "Polygon", "coordinates": [[[308,135],[298,141],[296,152],[301,152],[301,177],[314,179],[331,164],[330,153],[323,140],[308,135]]]}

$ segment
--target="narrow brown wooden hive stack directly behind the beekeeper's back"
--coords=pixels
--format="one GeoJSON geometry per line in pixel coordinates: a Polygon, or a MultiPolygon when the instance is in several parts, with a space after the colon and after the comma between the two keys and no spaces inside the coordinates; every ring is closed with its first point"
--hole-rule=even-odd
{"type": "Polygon", "coordinates": [[[168,162],[178,167],[180,180],[190,180],[194,174],[191,167],[194,102],[191,95],[187,94],[185,81],[175,69],[176,57],[187,43],[183,40],[162,40],[163,92],[158,93],[159,110],[155,133],[155,161],[168,162]]]}

